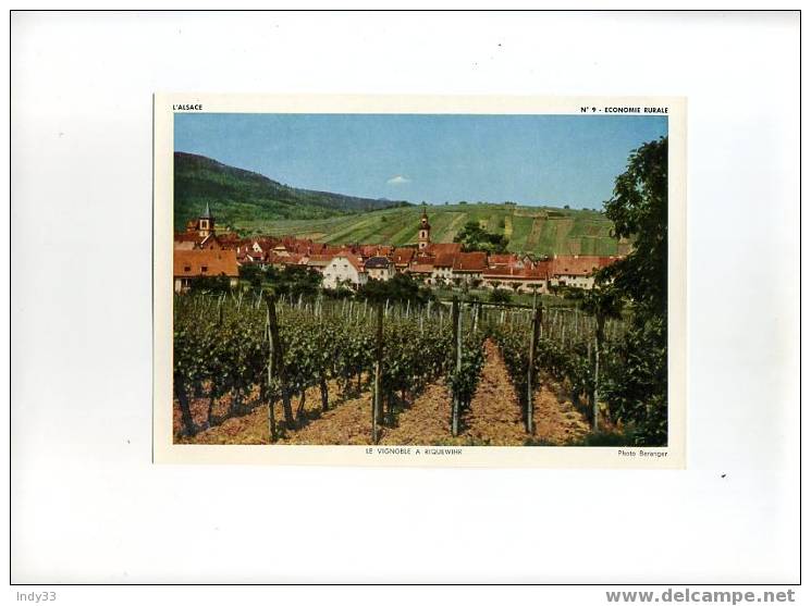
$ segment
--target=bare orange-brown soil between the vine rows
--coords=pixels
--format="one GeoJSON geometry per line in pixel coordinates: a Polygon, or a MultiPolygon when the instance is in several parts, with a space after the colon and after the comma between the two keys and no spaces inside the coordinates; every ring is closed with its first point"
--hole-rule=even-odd
{"type": "MultiPolygon", "coordinates": [[[[586,418],[566,397],[562,385],[542,378],[534,393],[536,432],[525,428],[523,410],[499,348],[486,342],[486,361],[479,386],[463,411],[459,435],[451,435],[451,393],[443,380],[429,384],[416,398],[406,399],[394,419],[381,428],[379,443],[388,445],[469,445],[523,446],[529,438],[549,445],[566,445],[589,432],[586,418]]],[[[371,444],[371,393],[341,394],[337,384],[329,383],[329,410],[321,410],[318,387],[307,389],[300,422],[287,428],[281,403],[274,405],[279,438],[275,444],[368,445],[371,444]]],[[[295,410],[299,398],[292,401],[295,410]]],[[[258,393],[246,398],[242,410],[229,417],[231,395],[213,406],[219,424],[206,429],[209,400],[191,398],[195,436],[182,435],[180,405],[174,401],[174,441],[177,444],[270,444],[268,407],[258,401],[258,393]],[[224,420],[223,420],[224,419],[224,420]]]]}

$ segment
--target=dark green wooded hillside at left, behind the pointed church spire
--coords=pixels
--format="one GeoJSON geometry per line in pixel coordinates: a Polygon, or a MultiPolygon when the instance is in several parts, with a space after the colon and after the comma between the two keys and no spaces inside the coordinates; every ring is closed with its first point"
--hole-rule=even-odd
{"type": "Polygon", "coordinates": [[[254,231],[267,221],[346,218],[360,211],[402,206],[405,202],[357,198],[328,191],[298,189],[258,173],[206,158],[174,153],[174,226],[211,206],[218,223],[254,231]]]}

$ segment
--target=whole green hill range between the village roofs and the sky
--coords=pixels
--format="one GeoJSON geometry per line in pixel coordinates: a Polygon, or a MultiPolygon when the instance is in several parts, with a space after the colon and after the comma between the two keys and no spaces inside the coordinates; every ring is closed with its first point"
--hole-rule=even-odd
{"type": "MultiPolygon", "coordinates": [[[[208,202],[220,225],[243,234],[295,235],[329,244],[417,243],[422,208],[298,189],[202,156],[174,154],[174,224],[184,228],[208,202]],[[388,208],[386,208],[388,207],[388,208]]],[[[601,212],[504,203],[429,206],[431,240],[447,243],[469,221],[506,235],[508,249],[534,255],[617,255],[601,212]]]]}

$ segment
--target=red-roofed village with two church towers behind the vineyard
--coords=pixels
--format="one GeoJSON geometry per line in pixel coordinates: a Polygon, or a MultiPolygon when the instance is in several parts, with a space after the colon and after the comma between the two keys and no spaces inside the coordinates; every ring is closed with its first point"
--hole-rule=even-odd
{"type": "Polygon", "coordinates": [[[230,231],[216,231],[209,205],[185,232],[174,235],[174,290],[185,293],[192,282],[205,276],[226,276],[237,286],[239,268],[246,265],[284,269],[295,265],[321,274],[328,289],[358,289],[369,281],[389,281],[409,274],[430,287],[469,286],[515,293],[550,293],[568,286],[590,289],[594,272],[622,257],[553,255],[536,258],[515,252],[465,251],[460,243],[431,242],[431,225],[423,208],[414,245],[317,243],[282,237],[243,238],[230,231]]]}

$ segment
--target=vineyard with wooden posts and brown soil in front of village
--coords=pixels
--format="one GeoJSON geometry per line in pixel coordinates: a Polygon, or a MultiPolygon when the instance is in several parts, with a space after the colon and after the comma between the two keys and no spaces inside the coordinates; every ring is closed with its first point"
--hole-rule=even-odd
{"type": "Polygon", "coordinates": [[[191,444],[568,445],[619,319],[577,308],[268,294],[174,300],[174,438],[191,444]]]}

